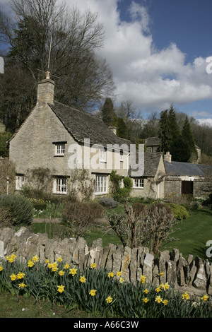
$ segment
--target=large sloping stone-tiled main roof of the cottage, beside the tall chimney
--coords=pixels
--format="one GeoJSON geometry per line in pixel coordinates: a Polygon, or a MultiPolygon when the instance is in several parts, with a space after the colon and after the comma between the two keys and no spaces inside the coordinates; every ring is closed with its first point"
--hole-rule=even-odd
{"type": "Polygon", "coordinates": [[[86,112],[57,101],[54,101],[54,105],[49,104],[49,107],[79,143],[84,143],[84,138],[90,138],[90,144],[101,144],[105,147],[107,144],[118,144],[119,146],[122,144],[129,146],[130,144],[130,141],[116,136],[102,120],[96,119],[86,112]]]}

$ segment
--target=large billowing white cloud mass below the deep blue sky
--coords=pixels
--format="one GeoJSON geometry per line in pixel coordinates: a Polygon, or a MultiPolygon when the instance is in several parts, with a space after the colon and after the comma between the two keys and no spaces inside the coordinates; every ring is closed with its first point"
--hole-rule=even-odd
{"type": "MultiPolygon", "coordinates": [[[[67,0],[67,3],[69,1],[67,0]]],[[[139,107],[165,107],[211,98],[211,77],[206,59],[185,64],[184,54],[175,43],[161,50],[154,48],[146,8],[134,1],[129,6],[131,22],[120,20],[117,0],[81,0],[83,10],[100,13],[107,39],[100,55],[107,59],[117,85],[117,102],[134,100],[139,107]]]]}

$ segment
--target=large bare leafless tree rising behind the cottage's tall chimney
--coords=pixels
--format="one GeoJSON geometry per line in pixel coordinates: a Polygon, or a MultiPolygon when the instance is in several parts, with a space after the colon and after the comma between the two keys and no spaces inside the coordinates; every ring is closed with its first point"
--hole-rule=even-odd
{"type": "Polygon", "coordinates": [[[98,13],[81,13],[58,0],[11,0],[11,9],[11,16],[0,9],[0,41],[11,46],[5,76],[19,66],[35,88],[49,70],[57,80],[55,99],[79,109],[113,95],[112,71],[95,54],[105,38],[98,13]]]}

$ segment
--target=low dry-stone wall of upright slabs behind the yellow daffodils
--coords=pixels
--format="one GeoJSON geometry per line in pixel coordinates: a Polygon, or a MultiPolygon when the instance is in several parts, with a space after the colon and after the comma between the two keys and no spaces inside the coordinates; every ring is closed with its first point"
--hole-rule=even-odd
{"type": "Polygon", "coordinates": [[[180,290],[190,290],[194,295],[212,295],[212,264],[199,257],[182,257],[178,249],[160,252],[159,258],[149,253],[148,248],[129,248],[110,244],[102,247],[102,239],[97,239],[88,247],[85,239],[49,239],[47,234],[33,234],[22,227],[18,232],[5,227],[0,229],[0,261],[16,254],[24,261],[37,254],[40,262],[46,259],[52,263],[60,256],[64,262],[72,263],[83,270],[95,263],[97,268],[107,271],[122,271],[126,281],[140,280],[146,276],[147,282],[155,285],[169,283],[180,290]],[[164,274],[159,276],[160,272],[164,274]]]}

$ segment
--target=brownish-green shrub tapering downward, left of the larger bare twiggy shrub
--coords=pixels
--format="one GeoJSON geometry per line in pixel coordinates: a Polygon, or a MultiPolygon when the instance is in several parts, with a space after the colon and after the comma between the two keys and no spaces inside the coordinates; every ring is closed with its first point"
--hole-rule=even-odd
{"type": "Polygon", "coordinates": [[[74,237],[80,237],[83,232],[92,227],[95,219],[101,218],[104,208],[100,203],[95,202],[76,202],[66,203],[62,220],[72,232],[74,237]]]}

